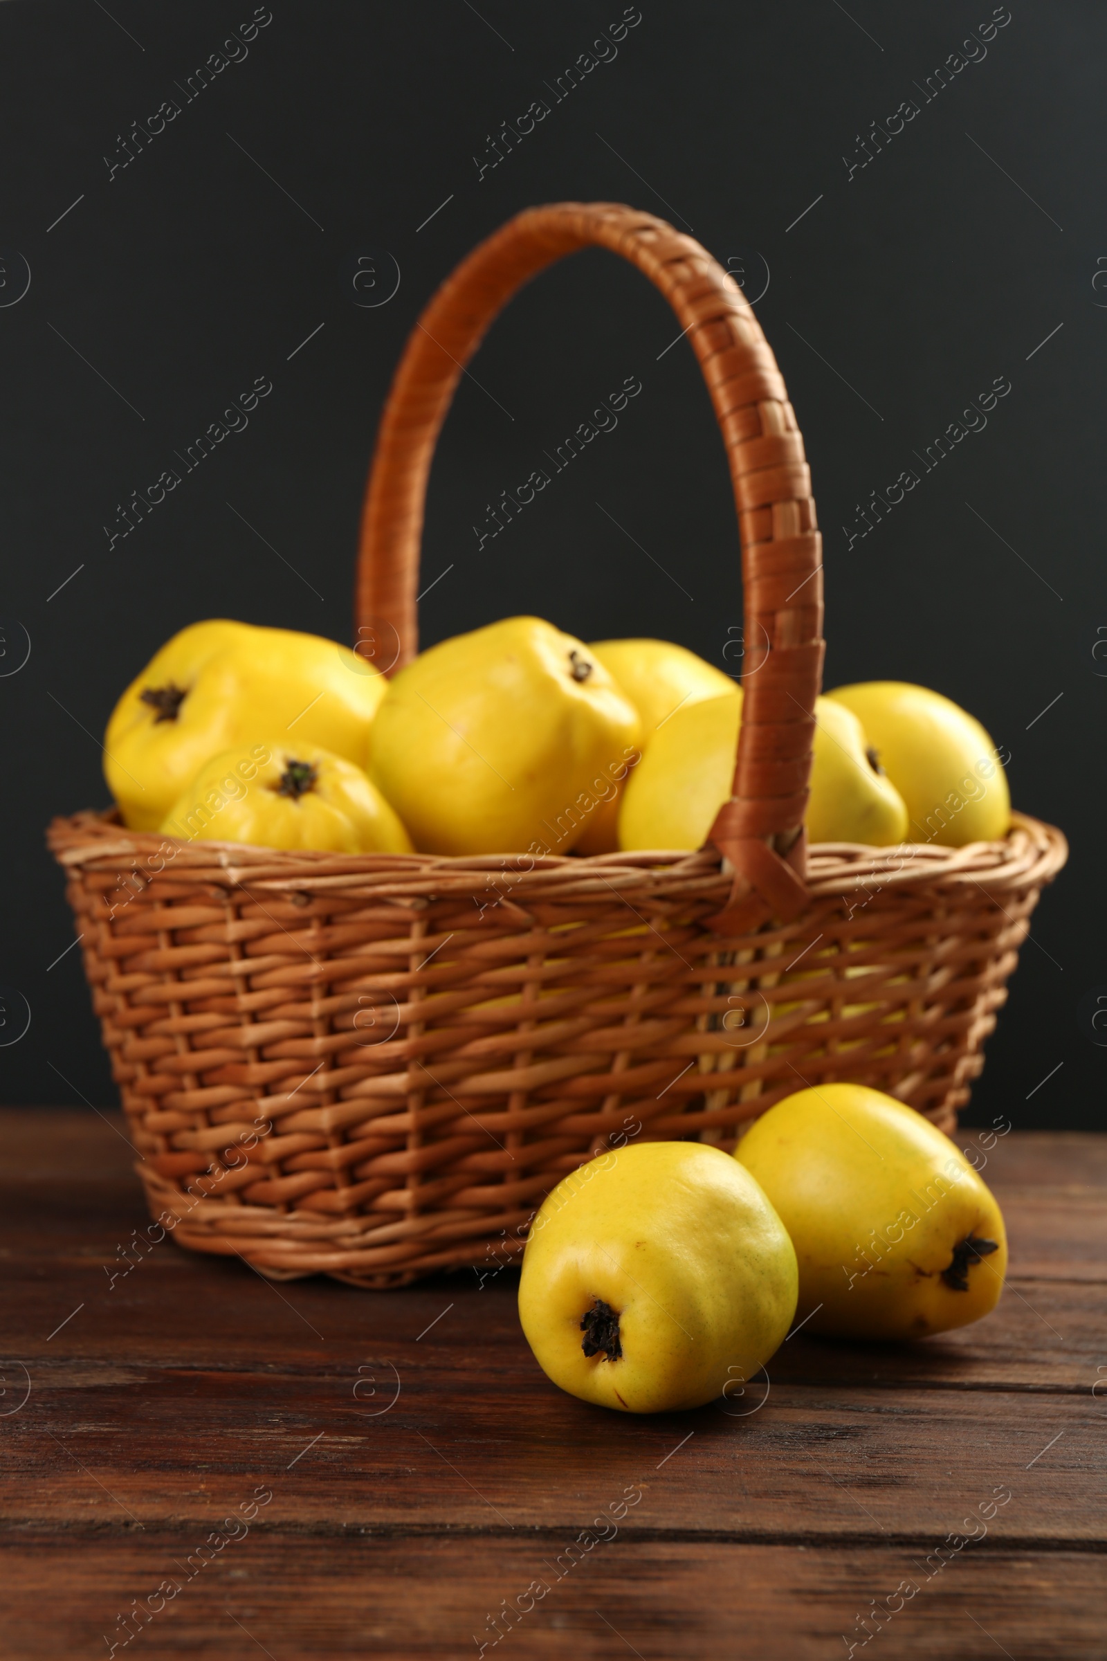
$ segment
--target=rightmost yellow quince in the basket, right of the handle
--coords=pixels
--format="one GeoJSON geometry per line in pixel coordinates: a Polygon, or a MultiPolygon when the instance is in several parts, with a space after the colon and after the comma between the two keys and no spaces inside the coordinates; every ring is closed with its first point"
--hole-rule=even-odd
{"type": "Polygon", "coordinates": [[[860,681],[827,693],[851,709],[908,809],[911,842],[964,847],[1011,829],[999,751],[973,716],[908,681],[860,681]]]}

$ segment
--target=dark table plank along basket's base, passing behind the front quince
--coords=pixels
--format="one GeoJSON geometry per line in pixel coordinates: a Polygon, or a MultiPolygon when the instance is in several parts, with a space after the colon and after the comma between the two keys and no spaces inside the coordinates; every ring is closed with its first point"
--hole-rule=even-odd
{"type": "MultiPolygon", "coordinates": [[[[1026,1213],[1012,1208],[1009,1219],[1014,1251],[1026,1249],[1026,1213]]],[[[126,1221],[126,1219],[123,1219],[126,1221]]],[[[334,1281],[272,1282],[247,1264],[181,1251],[171,1239],[153,1244],[115,1219],[78,1216],[38,1219],[35,1234],[0,1229],[3,1262],[3,1332],[10,1355],[30,1364],[40,1357],[53,1365],[60,1357],[108,1359],[124,1349],[158,1365],[251,1365],[285,1350],[307,1352],[339,1345],[347,1359],[365,1360],[365,1350],[383,1345],[397,1364],[417,1365],[427,1354],[418,1334],[443,1316],[430,1344],[450,1335],[451,1365],[493,1387],[505,1345],[528,1355],[518,1314],[518,1271],[493,1274],[483,1287],[463,1271],[436,1276],[417,1287],[360,1292],[334,1281]],[[108,1232],[111,1227],[113,1232],[108,1232]],[[129,1249],[129,1256],[126,1251],[129,1249]],[[131,1264],[129,1269],[124,1264],[131,1264]],[[115,1279],[113,1279],[115,1277],[115,1279]],[[75,1311],[80,1312],[75,1314],[75,1311]],[[443,1316],[445,1320],[445,1316],[443,1316]],[[65,1322],[56,1337],[50,1334],[65,1322]],[[481,1374],[481,1365],[486,1370],[481,1374]]],[[[133,1224],[131,1229],[136,1229],[133,1224]]],[[[143,1226],[144,1227],[144,1226],[143,1226]]],[[[1034,1251],[1046,1257],[1046,1244],[1034,1251]]],[[[1049,1264],[1047,1264],[1049,1266],[1049,1264]]],[[[1056,1267],[1056,1264],[1054,1264],[1056,1267]]],[[[1079,1266],[1062,1264],[1067,1271],[1079,1266]]],[[[1090,1389],[1107,1327],[1107,1282],[1080,1281],[1075,1272],[1044,1279],[1014,1274],[999,1307],[984,1320],[918,1344],[833,1344],[807,1332],[788,1339],[777,1352],[787,1379],[820,1382],[863,1379],[876,1384],[913,1382],[964,1389],[1047,1387],[1090,1389]],[[797,1372],[793,1357],[802,1355],[797,1372]]],[[[476,1382],[476,1379],[473,1379],[476,1382]]]]}

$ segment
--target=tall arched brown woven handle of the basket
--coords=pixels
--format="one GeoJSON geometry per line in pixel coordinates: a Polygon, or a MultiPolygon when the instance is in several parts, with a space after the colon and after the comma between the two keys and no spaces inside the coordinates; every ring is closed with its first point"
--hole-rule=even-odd
{"type": "Polygon", "coordinates": [[[446,277],[412,331],[380,420],[362,515],[358,633],[395,630],[393,669],[415,656],[427,477],[461,370],[516,289],[596,246],[629,259],[672,306],[727,447],[747,669],[732,796],[710,829],[734,887],[712,922],[744,933],[795,917],[808,899],[803,812],[823,664],[822,540],[777,360],[734,277],[694,238],[619,203],[554,203],[510,219],[446,277]]]}

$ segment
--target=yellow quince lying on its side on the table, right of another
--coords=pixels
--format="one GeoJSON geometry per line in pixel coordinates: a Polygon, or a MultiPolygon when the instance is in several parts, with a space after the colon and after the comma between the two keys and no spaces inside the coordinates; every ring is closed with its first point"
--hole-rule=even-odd
{"type": "Polygon", "coordinates": [[[846,1339],[918,1339],[999,1302],[994,1196],[929,1120],[880,1090],[800,1090],[734,1158],[762,1184],[800,1266],[798,1320],[846,1339]]]}

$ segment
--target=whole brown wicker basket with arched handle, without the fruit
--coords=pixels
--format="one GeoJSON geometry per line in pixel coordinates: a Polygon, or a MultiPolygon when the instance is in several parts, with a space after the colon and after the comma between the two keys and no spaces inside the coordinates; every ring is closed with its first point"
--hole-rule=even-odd
{"type": "Polygon", "coordinates": [[[360,638],[417,648],[423,495],[485,327],[599,244],[671,301],[710,390],[742,533],[734,799],[697,854],[443,859],[50,827],[151,1213],[274,1277],[493,1272],[571,1169],[629,1139],[732,1146],[803,1085],[873,1085],[953,1129],[1061,832],[805,849],[822,556],[803,442],[734,281],[651,214],[519,214],[432,299],[383,412],[360,638]]]}

